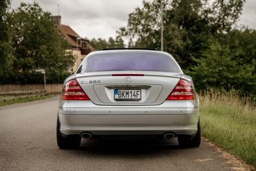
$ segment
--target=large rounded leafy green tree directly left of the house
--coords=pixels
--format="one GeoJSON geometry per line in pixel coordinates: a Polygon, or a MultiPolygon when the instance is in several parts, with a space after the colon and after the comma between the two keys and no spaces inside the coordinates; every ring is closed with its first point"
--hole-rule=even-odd
{"type": "Polygon", "coordinates": [[[67,53],[69,45],[54,25],[48,12],[37,3],[21,3],[10,12],[14,60],[17,73],[46,69],[46,73],[67,72],[74,62],[67,53]]]}

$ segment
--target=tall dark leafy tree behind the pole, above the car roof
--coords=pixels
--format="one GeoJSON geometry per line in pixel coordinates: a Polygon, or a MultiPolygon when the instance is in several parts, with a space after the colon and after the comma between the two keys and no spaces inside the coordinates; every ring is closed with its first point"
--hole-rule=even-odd
{"type": "MultiPolygon", "coordinates": [[[[194,57],[206,50],[219,33],[230,31],[238,20],[244,0],[163,0],[164,50],[187,69],[194,57]]],[[[160,1],[143,1],[129,14],[118,36],[133,39],[138,48],[160,49],[160,1]]],[[[131,44],[131,43],[130,43],[131,44]]]]}

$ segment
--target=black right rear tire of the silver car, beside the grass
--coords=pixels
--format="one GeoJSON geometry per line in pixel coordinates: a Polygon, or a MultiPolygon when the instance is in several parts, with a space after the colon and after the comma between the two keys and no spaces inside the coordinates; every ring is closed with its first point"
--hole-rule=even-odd
{"type": "Polygon", "coordinates": [[[201,144],[200,120],[197,123],[197,134],[195,134],[195,136],[178,136],[178,144],[180,145],[180,147],[199,147],[199,145],[201,144]]]}

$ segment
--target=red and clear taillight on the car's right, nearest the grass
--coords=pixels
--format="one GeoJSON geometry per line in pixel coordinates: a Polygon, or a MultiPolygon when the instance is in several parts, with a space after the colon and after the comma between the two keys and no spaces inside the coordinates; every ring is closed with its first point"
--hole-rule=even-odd
{"type": "Polygon", "coordinates": [[[171,94],[166,98],[166,100],[194,100],[195,93],[191,83],[184,79],[180,79],[174,90],[172,90],[171,94]]]}

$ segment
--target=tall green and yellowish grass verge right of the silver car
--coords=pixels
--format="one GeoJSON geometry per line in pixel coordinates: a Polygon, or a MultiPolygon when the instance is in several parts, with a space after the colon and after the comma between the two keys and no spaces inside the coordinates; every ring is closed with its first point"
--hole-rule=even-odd
{"type": "Polygon", "coordinates": [[[256,109],[246,99],[224,94],[200,96],[202,135],[256,166],[256,109]]]}

